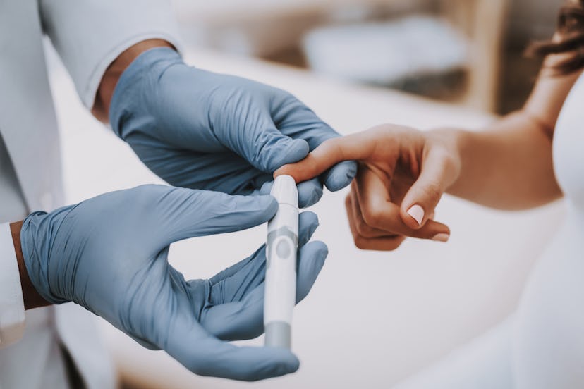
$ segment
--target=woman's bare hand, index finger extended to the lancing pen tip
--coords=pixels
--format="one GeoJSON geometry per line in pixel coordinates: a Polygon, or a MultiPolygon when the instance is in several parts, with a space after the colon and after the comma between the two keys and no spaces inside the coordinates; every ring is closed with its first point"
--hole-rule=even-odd
{"type": "Polygon", "coordinates": [[[447,130],[420,132],[379,125],[327,140],[274,175],[289,174],[300,183],[340,161],[358,160],[358,173],[346,198],[357,247],[392,250],[406,237],[446,242],[449,228],[433,218],[442,194],[461,171],[455,139],[447,130]]]}

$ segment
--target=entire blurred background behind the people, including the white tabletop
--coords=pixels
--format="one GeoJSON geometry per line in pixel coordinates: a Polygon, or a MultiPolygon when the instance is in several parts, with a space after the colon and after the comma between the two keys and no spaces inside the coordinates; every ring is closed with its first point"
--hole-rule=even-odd
{"type": "MultiPolygon", "coordinates": [[[[552,36],[561,3],[174,0],[174,7],[185,61],[286,89],[347,135],[379,123],[478,130],[518,109],[540,66],[523,50],[552,36]]],[[[83,109],[50,44],[47,53],[68,203],[161,183],[83,109]]],[[[447,245],[410,239],[394,252],[364,252],[348,230],[346,192],[327,192],[312,207],[329,258],[295,311],[298,373],[261,383],[195,376],[100,321],[123,388],[390,388],[509,316],[564,215],[561,202],[511,213],[445,196],[437,219],[451,228],[447,245]]],[[[207,278],[248,256],[265,233],[260,226],[179,242],[171,263],[186,278],[207,278]]]]}

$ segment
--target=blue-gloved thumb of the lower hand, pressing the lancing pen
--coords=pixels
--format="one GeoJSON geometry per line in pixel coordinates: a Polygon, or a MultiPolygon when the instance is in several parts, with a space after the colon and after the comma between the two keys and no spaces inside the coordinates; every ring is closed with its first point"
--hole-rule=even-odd
{"type": "Polygon", "coordinates": [[[278,203],[269,195],[226,195],[208,190],[172,188],[156,204],[163,245],[189,237],[231,233],[269,221],[278,203]]]}

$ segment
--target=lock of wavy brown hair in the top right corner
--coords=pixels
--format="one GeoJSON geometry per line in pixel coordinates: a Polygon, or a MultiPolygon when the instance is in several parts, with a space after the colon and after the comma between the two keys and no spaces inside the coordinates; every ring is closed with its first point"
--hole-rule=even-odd
{"type": "Polygon", "coordinates": [[[525,50],[528,56],[569,54],[553,68],[560,74],[584,68],[584,0],[571,0],[561,7],[554,39],[533,42],[525,50]]]}

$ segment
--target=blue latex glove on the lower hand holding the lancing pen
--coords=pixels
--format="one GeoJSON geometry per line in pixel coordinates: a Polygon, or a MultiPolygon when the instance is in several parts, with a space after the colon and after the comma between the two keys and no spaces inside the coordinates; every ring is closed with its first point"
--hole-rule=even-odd
{"type": "MultiPolygon", "coordinates": [[[[167,255],[172,242],[256,226],[276,209],[271,196],[146,185],[30,214],[20,239],[44,299],[76,302],[197,374],[253,381],[299,366],[289,350],[219,340],[263,332],[264,246],[209,280],[185,280],[167,255]]],[[[315,214],[300,214],[298,301],[327,257],[324,243],[307,244],[317,225],[315,214]]],[[[213,260],[212,253],[193,257],[213,260]]]]}

